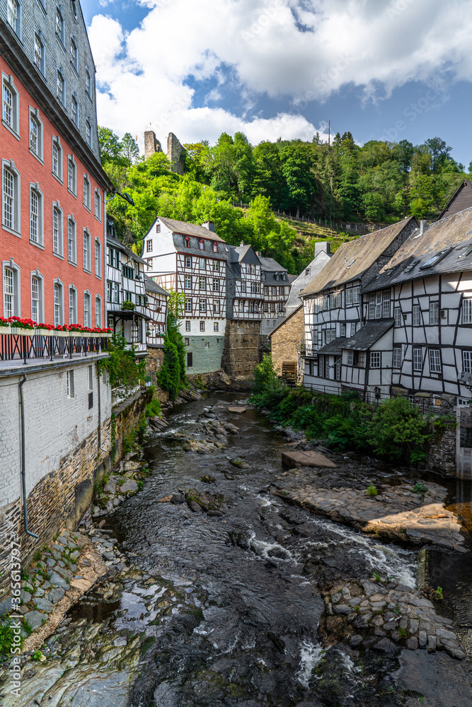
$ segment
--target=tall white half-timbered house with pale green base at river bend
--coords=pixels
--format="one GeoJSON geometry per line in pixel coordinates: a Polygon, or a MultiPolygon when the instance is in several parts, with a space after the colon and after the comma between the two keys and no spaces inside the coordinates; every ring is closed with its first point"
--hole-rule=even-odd
{"type": "Polygon", "coordinates": [[[146,274],[166,291],[185,295],[180,332],[189,373],[221,368],[229,248],[212,223],[198,226],[158,216],[144,236],[146,274]]]}

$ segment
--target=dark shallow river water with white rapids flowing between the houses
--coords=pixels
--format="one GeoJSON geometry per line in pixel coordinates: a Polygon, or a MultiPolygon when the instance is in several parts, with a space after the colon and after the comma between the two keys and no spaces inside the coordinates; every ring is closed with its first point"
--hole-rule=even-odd
{"type": "MultiPolygon", "coordinates": [[[[320,584],[335,578],[372,578],[379,572],[413,588],[417,555],[272,496],[271,480],[281,473],[280,456],[287,440],[258,411],[229,413],[228,403],[241,399],[212,394],[175,407],[166,432],[146,433],[144,457],[151,474],[144,489],[106,522],[122,547],[135,555],[140,572],[127,578],[111,599],[91,592],[69,618],[75,622],[72,626],[83,619],[79,624],[90,629],[100,621],[100,631],[145,635],[149,650],[137,667],[139,679],[133,677],[126,689],[107,692],[110,687],[104,685],[101,701],[98,696],[84,701],[84,693],[78,692],[67,703],[71,707],[420,704],[414,691],[399,689],[395,682],[398,658],[368,650],[357,653],[343,644],[324,650],[318,636],[324,606],[320,584]],[[211,455],[185,452],[174,433],[198,435],[202,422],[214,416],[234,423],[238,433],[211,455]],[[244,464],[231,465],[230,459],[244,464]],[[202,475],[214,477],[214,482],[200,481],[202,475]],[[169,493],[190,488],[222,496],[224,516],[210,518],[192,513],[186,504],[159,503],[169,493]]],[[[367,463],[372,469],[376,466],[374,460],[367,463]]],[[[434,551],[427,571],[442,583],[445,593],[454,595],[446,610],[458,614],[470,650],[468,566],[464,556],[434,551]],[[449,565],[448,557],[454,558],[449,565]],[[461,573],[457,595],[451,565],[461,573]]],[[[448,670],[459,665],[448,660],[454,664],[448,670]]],[[[459,699],[437,704],[463,707],[459,699]]],[[[434,703],[425,702],[425,707],[430,705],[434,703]]]]}

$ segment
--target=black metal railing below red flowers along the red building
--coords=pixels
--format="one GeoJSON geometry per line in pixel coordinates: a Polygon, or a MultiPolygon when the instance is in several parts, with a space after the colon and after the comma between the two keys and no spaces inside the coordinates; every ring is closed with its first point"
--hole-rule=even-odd
{"type": "Polygon", "coordinates": [[[109,337],[100,334],[75,334],[64,337],[61,334],[0,334],[0,361],[42,358],[54,361],[54,357],[72,358],[100,354],[108,349],[109,337]]]}

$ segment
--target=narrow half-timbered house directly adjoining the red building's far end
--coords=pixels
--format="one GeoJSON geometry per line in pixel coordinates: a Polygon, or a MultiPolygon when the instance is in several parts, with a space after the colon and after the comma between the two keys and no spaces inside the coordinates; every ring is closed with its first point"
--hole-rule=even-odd
{"type": "Polygon", "coordinates": [[[106,298],[108,327],[122,331],[139,356],[146,356],[146,303],[144,268],[146,263],[116,238],[115,225],[108,219],[106,298]]]}

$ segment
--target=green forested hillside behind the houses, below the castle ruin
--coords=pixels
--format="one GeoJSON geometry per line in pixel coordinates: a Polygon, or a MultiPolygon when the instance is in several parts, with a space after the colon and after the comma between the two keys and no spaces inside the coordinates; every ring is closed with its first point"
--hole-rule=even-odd
{"type": "Polygon", "coordinates": [[[129,134],[120,141],[100,128],[100,146],[105,171],[134,201],[129,206],[115,199],[108,211],[119,237],[137,252],[156,214],[214,221],[228,243],[252,243],[294,274],[313,257],[313,239],[330,240],[334,250],[352,236],[276,218],[271,209],[328,223],[390,223],[410,214],[432,218],[468,177],[439,138],[417,146],[402,140],[359,147],[345,133],[328,146],[316,134],[311,142],[279,139],[251,146],[242,133],[223,133],[214,146],[184,146],[184,177],[171,172],[163,153],[144,162],[129,134]],[[233,200],[250,206],[234,207],[233,200]]]}

